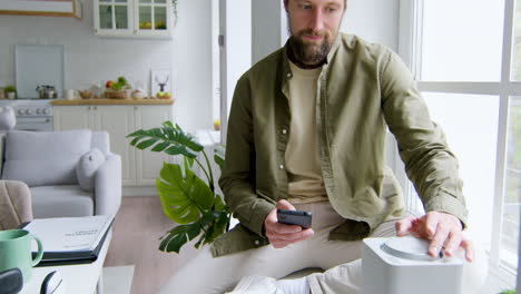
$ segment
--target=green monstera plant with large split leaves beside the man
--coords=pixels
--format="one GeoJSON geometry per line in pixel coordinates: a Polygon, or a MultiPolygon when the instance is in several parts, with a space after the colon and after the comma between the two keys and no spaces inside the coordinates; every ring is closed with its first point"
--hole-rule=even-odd
{"type": "MultiPolygon", "coordinates": [[[[170,121],[158,128],[136,130],[127,138],[132,138],[130,145],[138,149],[166,153],[183,159],[183,166],[164,163],[156,179],[163,210],[178,224],[160,238],[160,251],[179,253],[183,245],[199,236],[195,244],[198,248],[226,232],[230,212],[216,193],[212,166],[200,144],[170,121]],[[204,174],[203,179],[196,175],[197,168],[204,174]]],[[[215,149],[214,161],[223,168],[222,147],[215,149]]]]}

